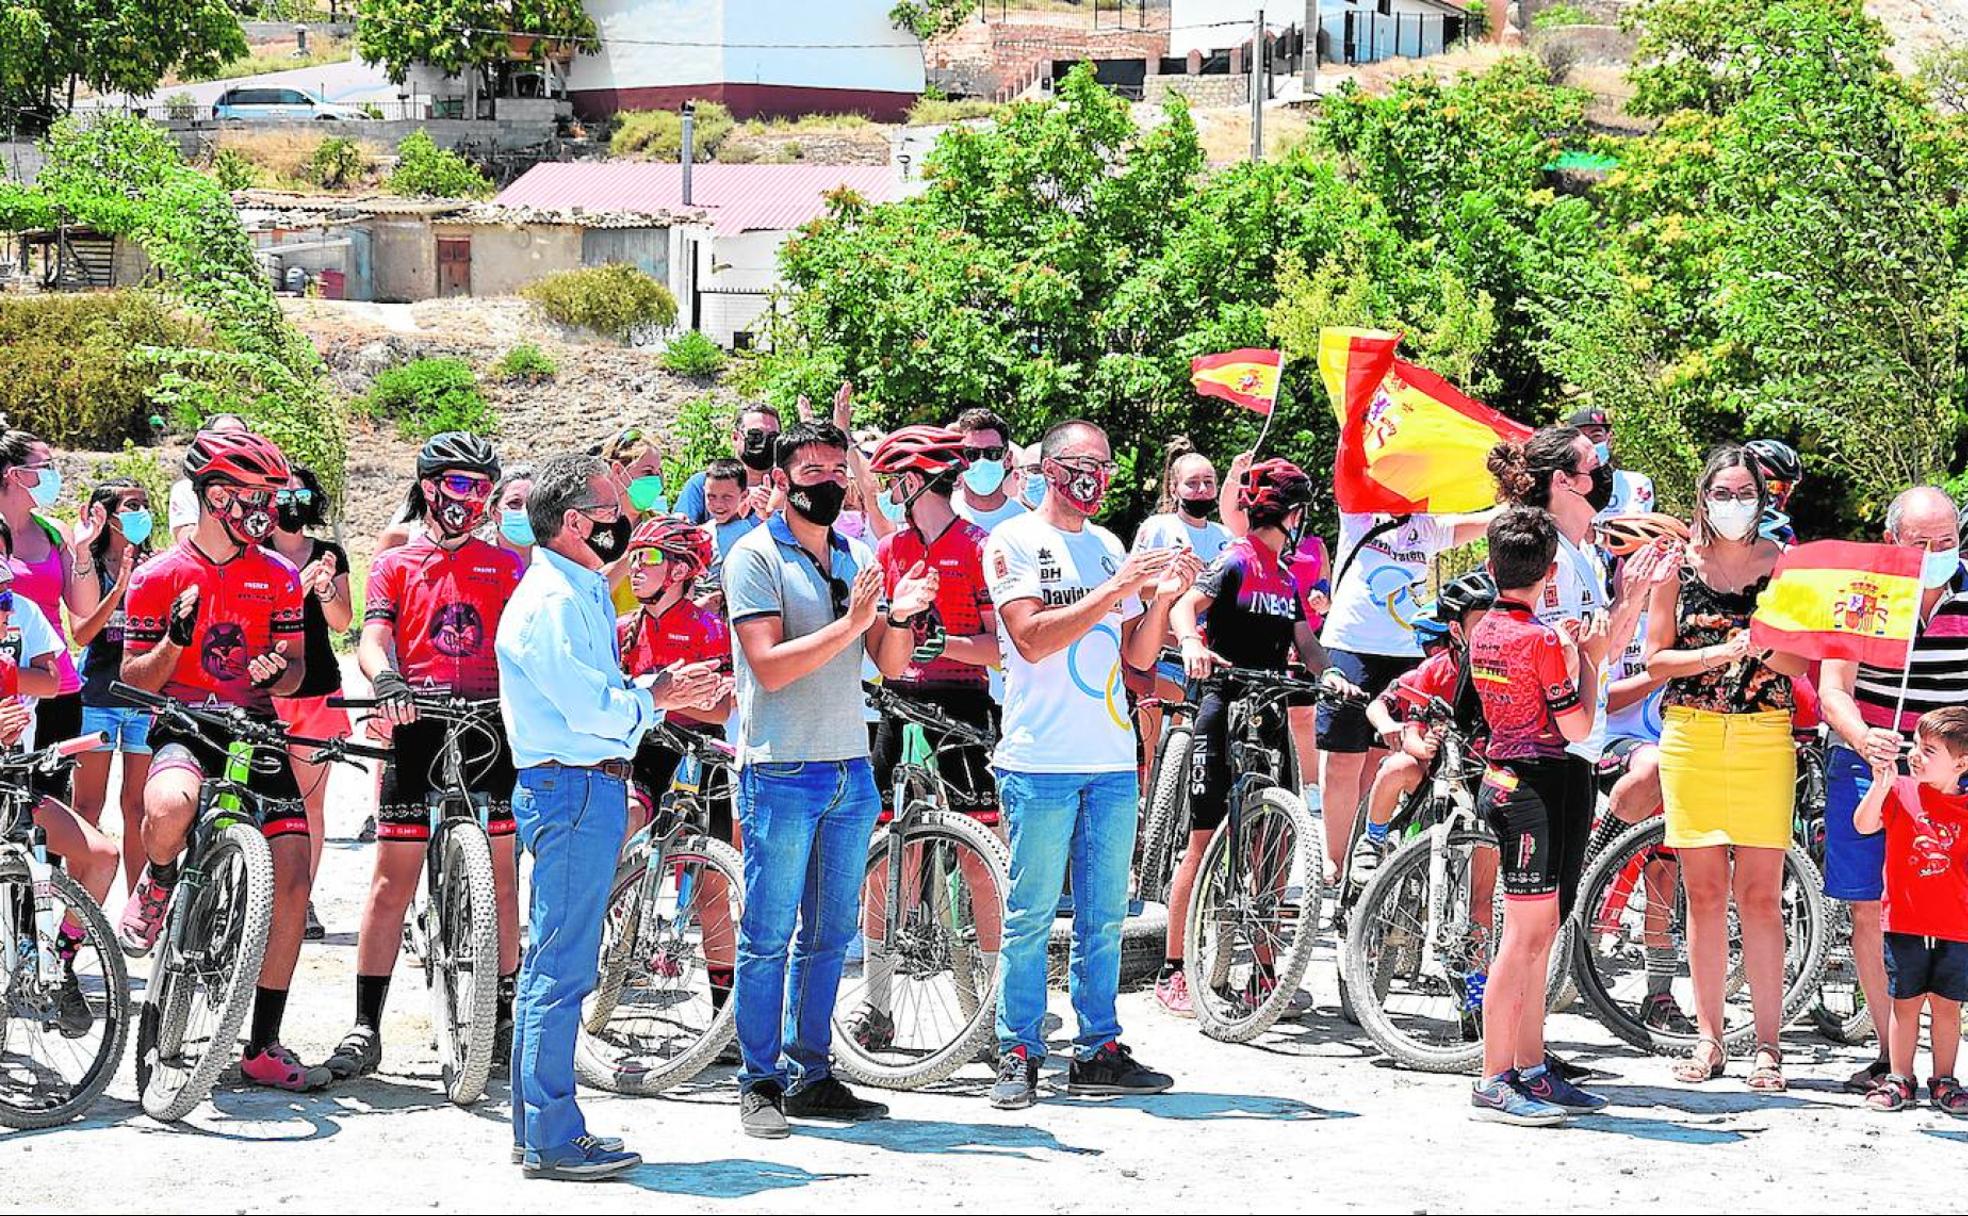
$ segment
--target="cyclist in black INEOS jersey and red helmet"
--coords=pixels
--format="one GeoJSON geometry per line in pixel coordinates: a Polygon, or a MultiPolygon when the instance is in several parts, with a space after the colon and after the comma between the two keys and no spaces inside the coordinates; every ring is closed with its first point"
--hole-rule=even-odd
{"type": "MultiPolygon", "coordinates": [[[[1214,502],[1214,476],[1210,478],[1214,502]]],[[[1200,492],[1200,486],[1195,486],[1200,492]]],[[[1328,671],[1326,651],[1305,622],[1299,584],[1291,577],[1291,543],[1305,523],[1305,508],[1313,502],[1313,480],[1291,460],[1261,460],[1238,490],[1238,506],[1250,521],[1250,531],[1230,543],[1193,588],[1169,610],[1169,624],[1183,647],[1183,671],[1189,679],[1206,679],[1218,665],[1285,671],[1285,655],[1297,647],[1307,669],[1326,673],[1334,689],[1350,691],[1338,671],[1328,671]],[[1204,620],[1206,618],[1206,620],[1204,620]]],[[[1291,748],[1287,720],[1269,716],[1279,754],[1291,748]]],[[[1189,783],[1189,840],[1183,862],[1169,883],[1169,946],[1155,1000],[1177,1017],[1195,1017],[1189,982],[1183,976],[1183,925],[1189,897],[1202,866],[1202,850],[1210,834],[1230,813],[1230,689],[1206,687],[1197,704],[1195,754],[1189,783]]],[[[1261,986],[1275,986],[1263,978],[1261,986]]],[[[1269,992],[1246,994],[1250,1002],[1267,1000],[1269,992]]]]}

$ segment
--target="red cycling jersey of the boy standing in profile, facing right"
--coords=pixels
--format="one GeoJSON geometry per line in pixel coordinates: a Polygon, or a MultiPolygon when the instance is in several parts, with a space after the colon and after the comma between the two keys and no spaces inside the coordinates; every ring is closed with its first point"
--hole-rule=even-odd
{"type": "Polygon", "coordinates": [[[1527,604],[1498,600],[1470,632],[1470,675],[1490,724],[1490,760],[1565,756],[1559,714],[1578,708],[1565,643],[1527,604]]]}

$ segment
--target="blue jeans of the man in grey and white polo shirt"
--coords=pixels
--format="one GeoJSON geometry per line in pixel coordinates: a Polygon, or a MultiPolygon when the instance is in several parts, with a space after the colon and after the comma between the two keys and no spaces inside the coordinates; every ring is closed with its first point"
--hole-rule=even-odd
{"type": "Polygon", "coordinates": [[[732,998],[742,1090],[771,1080],[791,1092],[830,1070],[840,960],[858,931],[880,813],[866,760],[748,763],[738,773],[744,917],[732,998]]]}

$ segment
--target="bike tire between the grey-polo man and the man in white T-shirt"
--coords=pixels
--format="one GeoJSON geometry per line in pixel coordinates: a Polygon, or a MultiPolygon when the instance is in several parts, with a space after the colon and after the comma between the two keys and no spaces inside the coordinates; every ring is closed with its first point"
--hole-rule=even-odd
{"type": "MultiPolygon", "coordinates": [[[[982,862],[988,880],[996,885],[998,925],[1002,935],[1006,899],[1012,893],[1012,860],[1006,846],[998,840],[998,836],[968,815],[958,815],[954,811],[921,811],[911,824],[909,838],[903,842],[903,848],[913,850],[935,844],[968,850],[982,862]]],[[[888,846],[890,832],[878,832],[874,844],[868,848],[868,870],[864,876],[886,872],[888,846]]],[[[886,897],[892,899],[893,891],[886,891],[886,897]]],[[[953,942],[953,952],[960,952],[962,948],[968,946],[960,939],[953,942]]],[[[976,956],[988,954],[982,950],[974,952],[976,956]]],[[[954,1033],[945,1035],[939,1045],[925,1049],[919,1057],[909,1059],[907,1063],[884,1059],[854,1041],[854,1035],[848,1033],[846,1017],[854,1011],[856,1002],[852,1000],[852,992],[848,992],[846,1000],[840,1000],[834,1005],[834,1070],[850,1080],[884,1090],[917,1090],[949,1078],[953,1072],[978,1059],[996,1033],[998,984],[1002,982],[1002,970],[996,962],[992,962],[988,968],[990,974],[982,984],[976,982],[976,970],[978,968],[970,968],[968,978],[960,980],[958,976],[962,972],[953,962],[953,988],[964,1019],[954,1027],[954,1033]]]]}

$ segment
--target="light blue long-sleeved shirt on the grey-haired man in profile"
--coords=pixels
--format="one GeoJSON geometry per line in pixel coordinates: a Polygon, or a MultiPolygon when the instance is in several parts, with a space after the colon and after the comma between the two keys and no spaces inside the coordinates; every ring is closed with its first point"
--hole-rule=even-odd
{"type": "Polygon", "coordinates": [[[545,545],[498,622],[498,700],[512,761],[594,765],[628,760],[657,720],[616,651],[608,580],[545,545]]]}

